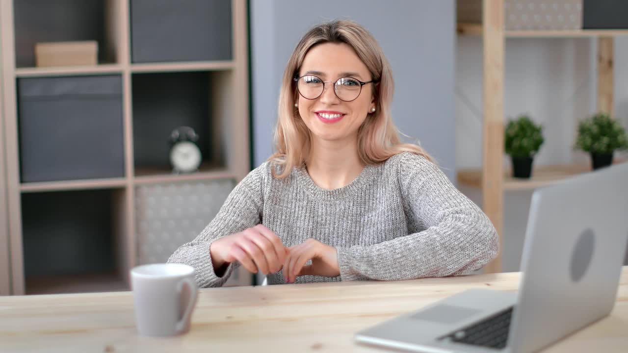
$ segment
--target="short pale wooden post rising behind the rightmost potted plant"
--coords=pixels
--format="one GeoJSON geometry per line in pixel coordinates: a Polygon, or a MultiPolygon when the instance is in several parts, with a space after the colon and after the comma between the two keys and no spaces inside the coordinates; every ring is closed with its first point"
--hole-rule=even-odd
{"type": "Polygon", "coordinates": [[[597,111],[613,116],[613,38],[597,40],[597,111]]]}

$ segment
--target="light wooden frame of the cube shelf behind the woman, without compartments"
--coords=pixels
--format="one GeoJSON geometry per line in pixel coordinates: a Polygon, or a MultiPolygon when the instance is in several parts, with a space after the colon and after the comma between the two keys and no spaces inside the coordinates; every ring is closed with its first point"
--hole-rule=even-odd
{"type": "MultiPolygon", "coordinates": [[[[21,196],[32,192],[118,189],[115,204],[119,205],[114,220],[117,264],[124,283],[129,283],[129,270],[138,259],[136,239],[135,192],[141,185],[151,183],[190,182],[232,178],[239,182],[250,171],[249,160],[249,65],[247,1],[230,0],[232,9],[232,60],[208,62],[131,63],[131,16],[128,0],[106,0],[107,50],[115,63],[74,67],[16,67],[14,55],[14,1],[0,1],[0,295],[23,295],[24,278],[23,229],[21,196]],[[6,48],[9,48],[8,50],[6,48]],[[223,168],[202,169],[198,173],[170,175],[156,171],[149,175],[134,175],[133,101],[131,97],[134,73],[215,72],[219,79],[212,83],[208,103],[211,115],[222,120],[214,128],[228,136],[222,139],[223,168]],[[122,119],[124,124],[124,177],[97,180],[68,180],[59,182],[21,183],[19,178],[19,143],[16,79],[21,77],[51,77],[74,75],[119,74],[122,77],[122,119]],[[220,90],[217,90],[219,85],[220,90]],[[4,103],[4,104],[2,104],[4,103]],[[237,118],[234,118],[237,117],[237,118]],[[222,119],[220,119],[222,118],[222,119]],[[4,129],[4,130],[3,130],[4,129]],[[6,146],[6,150],[4,147],[6,146]],[[6,156],[6,159],[5,159],[6,156]],[[4,169],[6,168],[6,169],[4,169]],[[5,178],[6,176],[6,178],[5,178]],[[10,229],[10,232],[9,232],[10,229]],[[8,246],[7,246],[8,244],[8,246]],[[6,261],[6,263],[4,263],[6,261]]],[[[219,152],[217,152],[219,153],[219,152]]],[[[141,170],[139,171],[141,174],[141,170]]],[[[240,273],[242,283],[249,273],[240,273]]],[[[250,275],[250,274],[249,274],[250,275]]],[[[237,276],[236,276],[237,277],[237,276]]],[[[70,281],[72,283],[72,281],[70,281]]],[[[96,281],[96,284],[98,281],[96,281]]],[[[31,285],[32,283],[30,283],[31,285]]],[[[44,290],[46,291],[46,290],[44,290]]]]}

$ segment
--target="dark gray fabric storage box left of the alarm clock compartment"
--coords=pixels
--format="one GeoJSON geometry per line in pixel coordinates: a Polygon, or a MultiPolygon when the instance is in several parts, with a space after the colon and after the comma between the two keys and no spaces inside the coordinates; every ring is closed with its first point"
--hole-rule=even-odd
{"type": "Polygon", "coordinates": [[[124,176],[119,75],[18,80],[22,182],[124,176]]]}

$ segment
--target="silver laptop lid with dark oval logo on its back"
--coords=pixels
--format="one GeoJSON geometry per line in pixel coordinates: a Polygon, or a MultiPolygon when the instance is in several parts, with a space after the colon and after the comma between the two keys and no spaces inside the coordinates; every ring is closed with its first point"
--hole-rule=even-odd
{"type": "Polygon", "coordinates": [[[535,190],[509,337],[533,352],[608,315],[628,241],[628,163],[535,190]]]}

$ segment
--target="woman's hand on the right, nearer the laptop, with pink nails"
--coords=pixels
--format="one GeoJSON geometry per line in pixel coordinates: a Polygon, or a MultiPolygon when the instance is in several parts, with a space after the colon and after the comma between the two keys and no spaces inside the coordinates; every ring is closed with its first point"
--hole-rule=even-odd
{"type": "Polygon", "coordinates": [[[297,276],[335,277],[340,275],[336,248],[316,239],[308,239],[288,248],[288,256],[283,263],[283,276],[286,283],[294,283],[297,276]],[[311,265],[305,266],[310,260],[311,265]]]}

